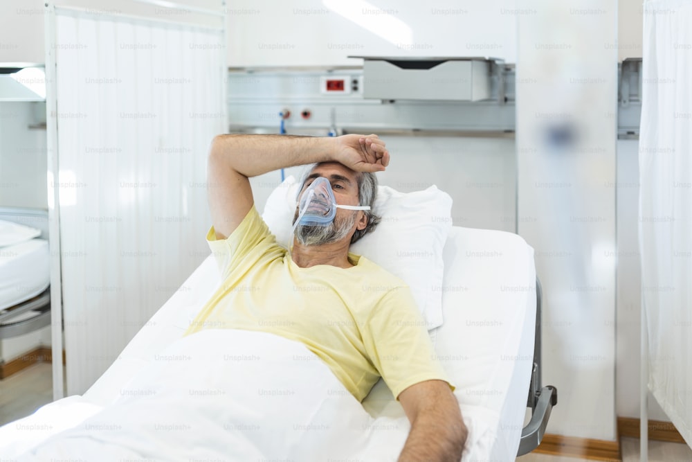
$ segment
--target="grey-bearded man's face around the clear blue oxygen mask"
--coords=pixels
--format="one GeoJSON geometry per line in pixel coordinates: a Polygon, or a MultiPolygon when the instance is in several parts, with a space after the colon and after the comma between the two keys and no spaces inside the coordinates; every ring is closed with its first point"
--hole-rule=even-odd
{"type": "MultiPolygon", "coordinates": [[[[302,185],[300,195],[298,196],[298,204],[300,197],[305,193],[305,190],[310,186],[312,181],[318,177],[325,177],[331,184],[331,190],[334,193],[337,204],[343,205],[359,205],[358,204],[358,177],[357,173],[337,162],[327,162],[318,164],[307,176],[305,183],[302,185]]],[[[293,215],[293,224],[298,220],[298,206],[295,208],[293,215]]],[[[364,220],[363,212],[344,210],[343,208],[336,209],[336,217],[334,222],[328,226],[307,226],[299,224],[295,228],[295,237],[302,245],[323,245],[329,242],[338,242],[345,238],[350,240],[358,224],[364,220]],[[360,220],[359,220],[360,218],[360,220]]]]}

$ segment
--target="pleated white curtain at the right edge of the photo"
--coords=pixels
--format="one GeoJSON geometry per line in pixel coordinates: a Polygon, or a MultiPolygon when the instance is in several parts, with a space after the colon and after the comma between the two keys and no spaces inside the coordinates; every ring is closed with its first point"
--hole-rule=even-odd
{"type": "Polygon", "coordinates": [[[692,446],[692,3],[644,3],[639,242],[648,388],[692,446]]]}

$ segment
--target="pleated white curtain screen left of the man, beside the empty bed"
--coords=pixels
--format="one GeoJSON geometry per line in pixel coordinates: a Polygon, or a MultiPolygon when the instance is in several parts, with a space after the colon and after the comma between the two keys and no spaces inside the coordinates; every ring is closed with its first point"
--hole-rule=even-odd
{"type": "MultiPolygon", "coordinates": [[[[83,393],[209,254],[226,130],[219,28],[55,8],[67,394],[83,393]]],[[[183,287],[184,290],[184,287],[183,287]]]]}

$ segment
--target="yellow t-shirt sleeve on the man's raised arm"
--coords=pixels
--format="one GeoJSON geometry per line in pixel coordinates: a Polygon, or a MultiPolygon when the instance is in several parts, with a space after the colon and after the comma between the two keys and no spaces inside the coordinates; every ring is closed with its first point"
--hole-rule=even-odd
{"type": "Polygon", "coordinates": [[[257,263],[262,249],[277,245],[274,235],[254,205],[228,238],[217,239],[212,226],[207,233],[207,243],[216,258],[222,281],[240,265],[250,267],[257,263]]]}

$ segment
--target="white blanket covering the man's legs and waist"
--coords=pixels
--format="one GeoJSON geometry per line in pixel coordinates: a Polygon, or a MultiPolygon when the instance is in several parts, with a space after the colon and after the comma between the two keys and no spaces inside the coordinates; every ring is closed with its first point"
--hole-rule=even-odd
{"type": "Polygon", "coordinates": [[[17,460],[394,461],[409,429],[374,420],[305,346],[264,332],[185,337],[120,395],[17,460]]]}

